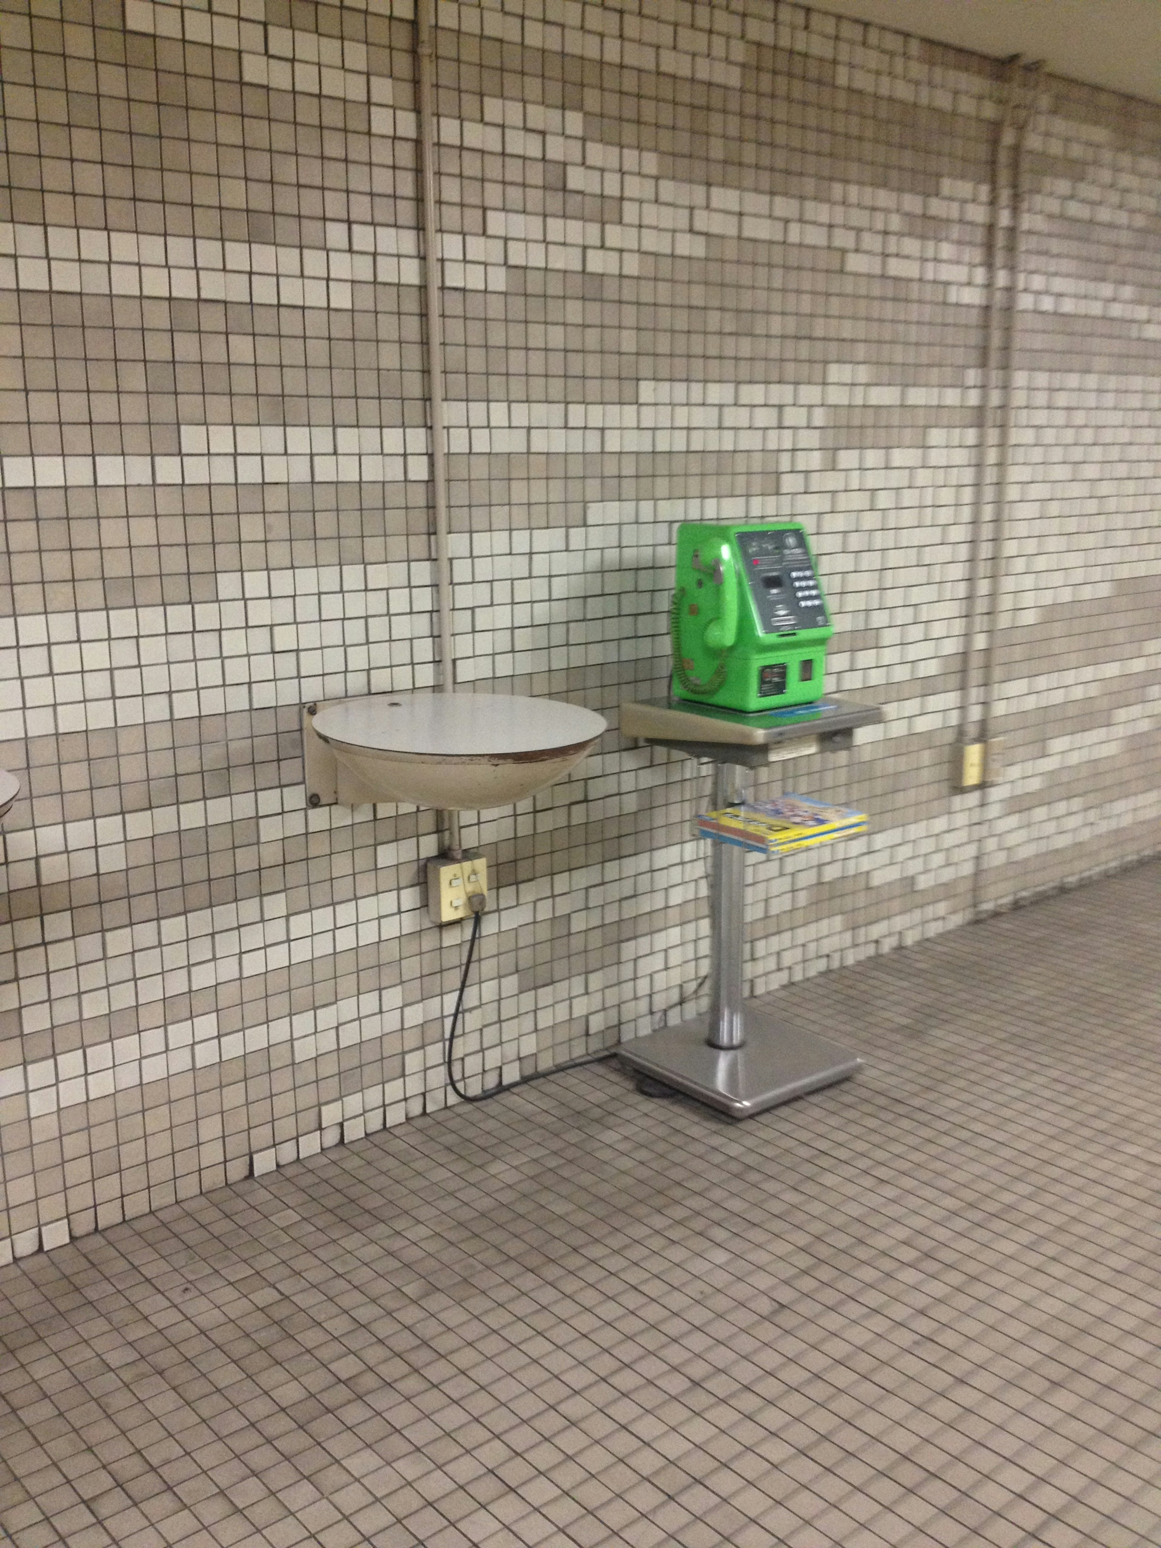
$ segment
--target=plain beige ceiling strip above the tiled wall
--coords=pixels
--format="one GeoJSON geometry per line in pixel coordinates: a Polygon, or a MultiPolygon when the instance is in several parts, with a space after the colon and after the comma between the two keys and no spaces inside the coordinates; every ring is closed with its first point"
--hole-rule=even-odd
{"type": "Polygon", "coordinates": [[[875,22],[1006,59],[1042,59],[1054,76],[1161,102],[1161,0],[814,0],[875,22]]]}

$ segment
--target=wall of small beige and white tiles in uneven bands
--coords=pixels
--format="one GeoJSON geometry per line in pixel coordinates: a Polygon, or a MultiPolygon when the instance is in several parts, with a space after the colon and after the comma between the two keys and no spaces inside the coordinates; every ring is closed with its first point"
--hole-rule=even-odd
{"type": "MultiPolygon", "coordinates": [[[[444,1104],[435,819],[305,805],[299,706],[437,681],[410,8],[3,0],[0,1260],[444,1104]]],[[[885,723],[759,776],[765,992],[1158,847],[1161,110],[1045,80],[1000,783],[957,794],[1000,67],[794,5],[441,5],[457,678],[666,683],[675,523],[794,517],[885,723]]],[[[1003,297],[1011,276],[998,276],[1003,297]]],[[[466,822],[467,1076],[706,968],[706,769],[610,731],[466,822]]]]}

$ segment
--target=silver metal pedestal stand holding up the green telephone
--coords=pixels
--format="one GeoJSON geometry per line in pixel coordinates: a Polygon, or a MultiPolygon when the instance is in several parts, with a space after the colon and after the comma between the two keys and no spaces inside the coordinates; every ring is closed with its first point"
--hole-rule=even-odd
{"type": "MultiPolygon", "coordinates": [[[[794,711],[740,715],[678,700],[621,706],[621,731],[655,746],[714,762],[714,810],[745,796],[748,768],[765,766],[788,743],[814,738],[822,751],[851,746],[854,729],[882,718],[873,706],[825,700],[794,711]]],[[[811,749],[813,751],[813,749],[811,749]]],[[[684,1091],[732,1118],[749,1118],[817,1091],[862,1063],[858,1054],[743,998],[746,851],[714,844],[711,861],[711,1005],[680,1026],[624,1043],[621,1060],[644,1091],[684,1091]]],[[[659,1094],[659,1093],[656,1093],[659,1094]]]]}

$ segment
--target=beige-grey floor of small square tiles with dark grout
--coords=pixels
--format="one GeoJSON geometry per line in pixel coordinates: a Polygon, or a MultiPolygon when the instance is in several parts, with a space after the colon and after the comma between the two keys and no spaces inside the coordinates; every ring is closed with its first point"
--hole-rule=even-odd
{"type": "MultiPolygon", "coordinates": [[[[19,1548],[1161,1542],[1161,865],[0,1272],[19,1548]]],[[[2,1534],[0,1534],[2,1536],[2,1534]]]]}

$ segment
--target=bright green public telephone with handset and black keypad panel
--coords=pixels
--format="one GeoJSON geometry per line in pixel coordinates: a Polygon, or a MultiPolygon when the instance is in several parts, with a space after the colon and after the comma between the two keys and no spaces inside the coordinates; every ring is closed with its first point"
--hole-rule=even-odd
{"type": "Polygon", "coordinates": [[[673,697],[757,712],[822,698],[827,613],[796,522],[678,526],[673,697]]]}

